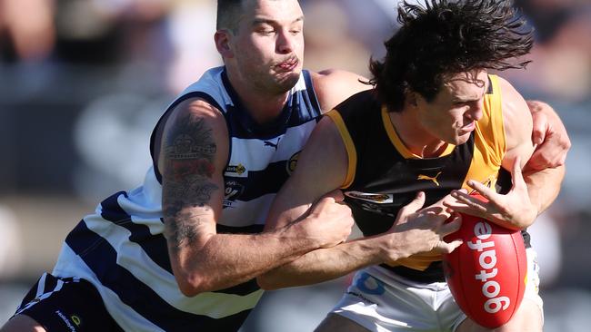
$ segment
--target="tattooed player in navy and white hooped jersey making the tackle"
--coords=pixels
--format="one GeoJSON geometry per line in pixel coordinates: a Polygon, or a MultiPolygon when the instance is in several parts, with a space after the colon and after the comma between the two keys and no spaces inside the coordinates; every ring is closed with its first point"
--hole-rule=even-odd
{"type": "Polygon", "coordinates": [[[143,185],[78,224],[3,332],[236,330],[261,296],[256,276],[346,238],[350,211],[334,198],[260,233],[321,110],[366,89],[353,73],[302,70],[302,24],[295,0],[218,2],[225,66],[170,104],[143,185]]]}

